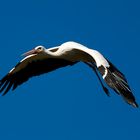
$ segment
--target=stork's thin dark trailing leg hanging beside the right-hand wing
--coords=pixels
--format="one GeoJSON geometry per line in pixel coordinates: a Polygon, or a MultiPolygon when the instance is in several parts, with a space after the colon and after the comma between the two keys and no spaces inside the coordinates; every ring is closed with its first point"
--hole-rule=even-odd
{"type": "Polygon", "coordinates": [[[85,62],[85,64],[87,64],[89,67],[91,67],[94,71],[95,71],[95,74],[97,75],[98,79],[99,79],[99,82],[104,90],[104,92],[106,93],[107,96],[110,96],[109,94],[109,90],[104,86],[104,84],[102,83],[102,80],[97,72],[97,69],[96,69],[96,66],[94,64],[91,64],[91,63],[88,63],[88,62],[85,62]]]}

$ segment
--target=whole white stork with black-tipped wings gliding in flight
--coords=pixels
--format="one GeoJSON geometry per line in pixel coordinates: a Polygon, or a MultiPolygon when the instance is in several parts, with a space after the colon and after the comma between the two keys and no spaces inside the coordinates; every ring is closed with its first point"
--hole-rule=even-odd
{"type": "Polygon", "coordinates": [[[121,95],[128,104],[138,107],[124,74],[97,50],[69,41],[49,49],[37,46],[24,53],[23,56],[25,57],[0,80],[2,95],[5,95],[11,88],[16,89],[33,76],[83,62],[94,70],[108,96],[109,90],[103,81],[118,95],[121,95]]]}

